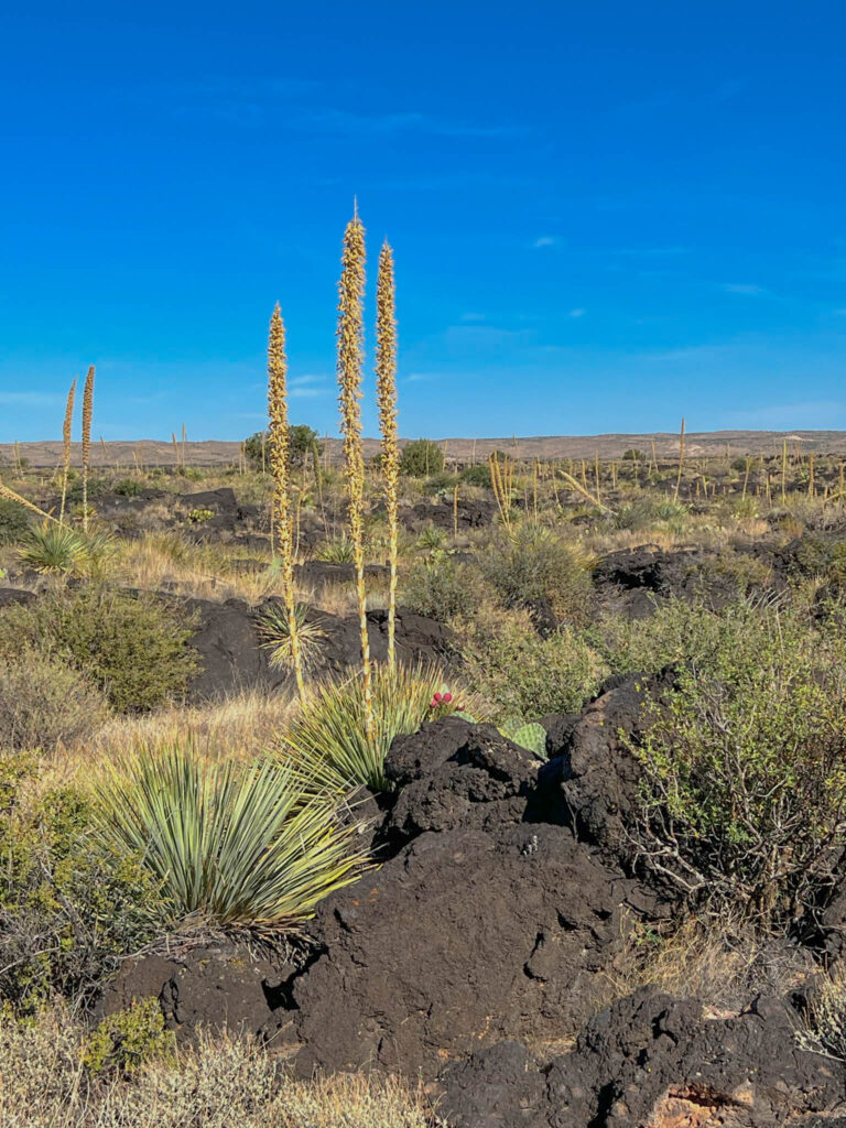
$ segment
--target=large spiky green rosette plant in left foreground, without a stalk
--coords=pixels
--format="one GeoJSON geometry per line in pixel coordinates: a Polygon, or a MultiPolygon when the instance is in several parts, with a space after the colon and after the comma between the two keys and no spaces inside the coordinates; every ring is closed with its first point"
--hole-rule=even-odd
{"type": "Polygon", "coordinates": [[[96,786],[103,835],[140,857],[174,913],[194,923],[296,931],[367,865],[341,801],[306,794],[290,763],[142,747],[96,786]]]}

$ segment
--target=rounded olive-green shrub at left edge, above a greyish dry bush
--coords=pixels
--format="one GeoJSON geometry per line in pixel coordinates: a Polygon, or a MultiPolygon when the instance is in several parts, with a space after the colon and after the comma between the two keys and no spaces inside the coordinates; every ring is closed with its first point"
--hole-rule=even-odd
{"type": "Polygon", "coordinates": [[[46,647],[87,675],[120,711],[144,711],[184,694],[196,669],[191,628],[161,600],[99,584],[53,590],[0,613],[0,658],[46,647]]]}

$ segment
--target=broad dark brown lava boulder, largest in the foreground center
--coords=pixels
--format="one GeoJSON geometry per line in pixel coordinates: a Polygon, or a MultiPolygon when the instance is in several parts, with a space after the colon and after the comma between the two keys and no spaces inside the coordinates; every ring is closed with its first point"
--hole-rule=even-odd
{"type": "Polygon", "coordinates": [[[572,1034],[620,952],[636,885],[563,827],[420,835],[333,895],[293,982],[298,1072],[433,1077],[474,1047],[572,1034]]]}

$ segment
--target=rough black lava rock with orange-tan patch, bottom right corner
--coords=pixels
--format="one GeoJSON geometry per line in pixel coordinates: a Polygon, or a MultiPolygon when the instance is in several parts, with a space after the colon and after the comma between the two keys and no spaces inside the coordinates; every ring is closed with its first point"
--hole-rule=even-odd
{"type": "Polygon", "coordinates": [[[522,1076],[513,1047],[483,1050],[446,1075],[439,1110],[466,1128],[774,1128],[843,1113],[843,1065],[800,1049],[795,1031],[778,999],[714,1020],[694,999],[644,988],[593,1017],[576,1048],[540,1073],[527,1056],[522,1076]],[[522,1105],[491,1085],[496,1054],[522,1105]]]}

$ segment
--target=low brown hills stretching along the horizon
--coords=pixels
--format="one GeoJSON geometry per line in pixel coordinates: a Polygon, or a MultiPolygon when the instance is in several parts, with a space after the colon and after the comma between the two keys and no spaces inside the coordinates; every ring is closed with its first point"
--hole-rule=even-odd
{"type": "MultiPolygon", "coordinates": [[[[724,455],[726,448],[738,455],[774,455],[787,440],[791,449],[796,444],[804,451],[814,453],[846,455],[846,431],[691,431],[685,437],[687,453],[691,458],[724,455]]],[[[409,440],[400,440],[403,443],[409,440]]],[[[341,440],[329,439],[328,457],[332,461],[341,458],[341,440]]],[[[448,461],[482,461],[492,450],[514,453],[521,459],[566,459],[622,458],[626,450],[637,449],[649,453],[652,443],[659,458],[678,455],[679,437],[664,431],[645,434],[589,434],[589,435],[532,435],[530,438],[509,437],[504,439],[442,439],[448,461]]],[[[185,461],[188,466],[226,466],[238,461],[240,444],[237,442],[188,442],[185,446],[185,461]]],[[[62,459],[61,442],[23,442],[21,458],[33,467],[58,466],[62,459]]],[[[379,451],[378,439],[364,440],[364,456],[372,458],[379,451]]],[[[180,456],[182,458],[182,448],[180,456]]],[[[3,465],[14,464],[16,458],[12,443],[0,443],[0,470],[3,465]]],[[[81,461],[81,446],[73,444],[73,465],[81,461]]],[[[118,466],[131,469],[135,464],[147,466],[173,466],[176,452],[170,442],[144,439],[139,442],[106,442],[91,444],[94,466],[118,466]]]]}

